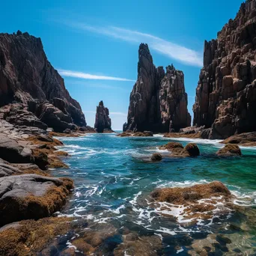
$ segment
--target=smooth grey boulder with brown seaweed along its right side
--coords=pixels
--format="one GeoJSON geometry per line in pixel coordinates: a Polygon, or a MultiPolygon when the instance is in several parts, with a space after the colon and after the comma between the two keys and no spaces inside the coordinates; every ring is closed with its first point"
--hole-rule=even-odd
{"type": "Polygon", "coordinates": [[[64,205],[73,181],[37,174],[0,178],[0,226],[50,216],[64,205]]]}

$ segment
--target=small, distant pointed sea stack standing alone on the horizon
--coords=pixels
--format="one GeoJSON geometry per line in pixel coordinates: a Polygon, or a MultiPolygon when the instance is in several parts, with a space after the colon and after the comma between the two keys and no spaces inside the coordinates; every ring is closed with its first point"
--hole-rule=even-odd
{"type": "Polygon", "coordinates": [[[97,132],[104,132],[104,130],[111,131],[111,119],[109,118],[109,109],[106,108],[101,100],[97,106],[94,128],[97,132]]]}

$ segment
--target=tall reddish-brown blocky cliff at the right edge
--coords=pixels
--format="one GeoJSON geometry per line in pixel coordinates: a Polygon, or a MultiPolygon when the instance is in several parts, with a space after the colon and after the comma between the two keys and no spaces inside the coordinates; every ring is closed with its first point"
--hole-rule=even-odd
{"type": "Polygon", "coordinates": [[[204,42],[193,106],[193,124],[212,128],[210,138],[256,130],[256,1],[248,0],[235,19],[204,42]]]}

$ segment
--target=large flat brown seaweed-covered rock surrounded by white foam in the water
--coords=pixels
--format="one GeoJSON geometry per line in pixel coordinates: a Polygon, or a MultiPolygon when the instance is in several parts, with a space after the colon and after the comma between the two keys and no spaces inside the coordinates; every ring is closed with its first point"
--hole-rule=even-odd
{"type": "Polygon", "coordinates": [[[235,208],[231,192],[219,181],[183,188],[155,189],[151,196],[156,202],[162,202],[156,204],[159,213],[164,210],[167,216],[190,221],[210,219],[215,213],[225,215],[235,208]],[[177,213],[180,216],[176,216],[177,213]]]}

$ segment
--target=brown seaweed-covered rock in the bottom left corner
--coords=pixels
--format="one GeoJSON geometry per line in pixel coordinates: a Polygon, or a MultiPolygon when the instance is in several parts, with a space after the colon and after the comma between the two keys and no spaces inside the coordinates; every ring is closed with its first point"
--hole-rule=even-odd
{"type": "Polygon", "coordinates": [[[37,255],[57,236],[67,234],[72,228],[72,220],[50,217],[6,225],[0,228],[0,255],[37,255]]]}

